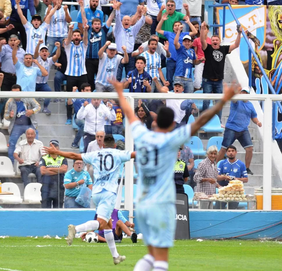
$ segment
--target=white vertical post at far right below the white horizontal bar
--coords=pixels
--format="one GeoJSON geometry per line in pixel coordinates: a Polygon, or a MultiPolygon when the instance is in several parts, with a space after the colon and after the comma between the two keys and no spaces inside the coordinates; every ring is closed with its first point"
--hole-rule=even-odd
{"type": "Polygon", "coordinates": [[[263,112],[263,211],[271,211],[272,101],[265,99],[263,112]]]}

